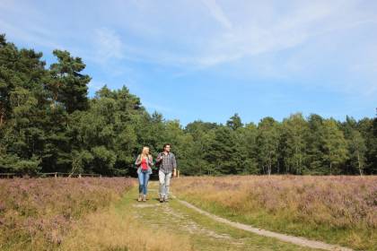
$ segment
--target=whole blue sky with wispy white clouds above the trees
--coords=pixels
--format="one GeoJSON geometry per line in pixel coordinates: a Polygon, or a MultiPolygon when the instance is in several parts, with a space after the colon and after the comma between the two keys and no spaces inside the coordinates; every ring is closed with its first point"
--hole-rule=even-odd
{"type": "Polygon", "coordinates": [[[375,116],[377,1],[2,0],[0,13],[18,47],[82,57],[91,96],[126,85],[183,125],[375,116]]]}

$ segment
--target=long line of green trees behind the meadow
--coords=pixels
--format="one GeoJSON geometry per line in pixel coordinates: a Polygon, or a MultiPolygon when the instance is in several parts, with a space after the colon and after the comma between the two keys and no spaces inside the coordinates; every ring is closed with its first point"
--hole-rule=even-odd
{"type": "Polygon", "coordinates": [[[53,55],[46,65],[0,35],[0,172],[129,175],[142,146],[156,155],[171,143],[185,175],[377,173],[377,117],[296,113],[243,124],[234,114],[224,125],[182,126],[148,113],[125,86],[88,97],[83,60],[53,55]]]}

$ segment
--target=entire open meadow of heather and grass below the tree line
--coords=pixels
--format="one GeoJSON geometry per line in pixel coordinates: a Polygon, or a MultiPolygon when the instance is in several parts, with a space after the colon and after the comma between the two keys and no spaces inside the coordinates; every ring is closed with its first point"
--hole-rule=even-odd
{"type": "Polygon", "coordinates": [[[374,176],[180,177],[171,186],[177,197],[171,202],[158,202],[158,182],[151,181],[148,200],[140,203],[133,178],[0,179],[0,250],[318,248],[234,228],[186,202],[288,237],[354,250],[377,247],[374,176]]]}

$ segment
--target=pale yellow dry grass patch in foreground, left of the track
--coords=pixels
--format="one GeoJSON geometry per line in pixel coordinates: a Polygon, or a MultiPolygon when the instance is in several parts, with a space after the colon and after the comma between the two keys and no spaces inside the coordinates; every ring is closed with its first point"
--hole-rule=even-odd
{"type": "Polygon", "coordinates": [[[76,224],[62,250],[191,250],[187,238],[147,229],[127,212],[95,212],[76,224]]]}

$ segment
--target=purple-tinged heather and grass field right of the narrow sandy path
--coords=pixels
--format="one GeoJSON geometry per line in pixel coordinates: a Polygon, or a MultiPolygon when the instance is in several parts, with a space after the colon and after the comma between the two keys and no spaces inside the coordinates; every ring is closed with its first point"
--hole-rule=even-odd
{"type": "Polygon", "coordinates": [[[179,198],[255,227],[377,250],[377,177],[184,177],[179,198]]]}

